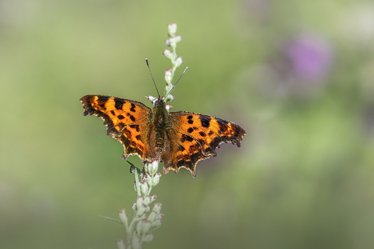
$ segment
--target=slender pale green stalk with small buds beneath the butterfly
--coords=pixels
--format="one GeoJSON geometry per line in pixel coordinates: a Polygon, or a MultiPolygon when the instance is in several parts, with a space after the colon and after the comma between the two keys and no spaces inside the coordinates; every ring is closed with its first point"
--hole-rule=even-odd
{"type": "MultiPolygon", "coordinates": [[[[172,67],[165,70],[165,96],[171,91],[173,84],[173,78],[175,71],[183,63],[182,58],[177,55],[177,43],[182,39],[180,36],[176,36],[177,24],[170,23],[168,25],[169,38],[165,41],[166,46],[170,46],[172,51],[165,49],[163,54],[171,61],[172,67]]],[[[186,71],[186,70],[185,70],[186,71]]],[[[153,102],[157,99],[153,96],[146,97],[153,102]]],[[[165,102],[172,101],[174,96],[168,95],[165,98],[165,102]]],[[[166,105],[169,110],[171,105],[166,105]]],[[[132,219],[128,224],[128,218],[125,213],[125,209],[121,209],[118,212],[121,221],[113,218],[104,217],[112,221],[119,222],[125,226],[126,240],[117,240],[117,247],[119,249],[138,249],[142,248],[144,242],[151,242],[154,239],[153,231],[157,230],[162,224],[161,203],[154,203],[153,208],[150,208],[150,204],[157,199],[156,195],[151,196],[151,190],[159,184],[161,173],[157,172],[159,168],[159,161],[153,161],[151,163],[145,163],[143,170],[138,169],[132,163],[128,162],[130,172],[135,174],[134,190],[137,193],[137,200],[132,204],[132,219]]]]}

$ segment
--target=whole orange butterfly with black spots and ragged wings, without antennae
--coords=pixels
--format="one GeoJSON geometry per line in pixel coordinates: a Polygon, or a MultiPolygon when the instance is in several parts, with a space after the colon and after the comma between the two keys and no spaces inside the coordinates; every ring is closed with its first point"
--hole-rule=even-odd
{"type": "Polygon", "coordinates": [[[103,95],[80,99],[85,112],[104,120],[107,134],[124,147],[123,159],[138,155],[143,162],[164,162],[163,172],[181,167],[196,176],[196,164],[209,156],[223,142],[240,147],[246,134],[242,127],[212,116],[187,111],[169,113],[159,98],[153,109],[138,101],[103,95]]]}

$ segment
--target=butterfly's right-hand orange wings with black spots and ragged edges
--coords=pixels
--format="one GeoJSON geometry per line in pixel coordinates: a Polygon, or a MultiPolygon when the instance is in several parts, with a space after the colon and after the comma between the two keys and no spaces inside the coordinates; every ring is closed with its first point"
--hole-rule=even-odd
{"type": "Polygon", "coordinates": [[[170,135],[172,152],[165,157],[165,173],[170,169],[178,172],[184,167],[195,177],[199,160],[215,157],[221,143],[231,142],[240,147],[240,141],[246,134],[245,130],[235,123],[199,113],[169,113],[169,121],[175,134],[170,135]]]}

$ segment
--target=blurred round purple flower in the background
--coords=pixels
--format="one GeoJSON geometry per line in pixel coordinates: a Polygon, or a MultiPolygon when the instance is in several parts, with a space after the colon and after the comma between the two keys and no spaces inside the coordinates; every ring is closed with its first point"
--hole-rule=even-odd
{"type": "Polygon", "coordinates": [[[304,80],[321,79],[331,66],[331,47],[317,36],[296,36],[286,46],[285,53],[290,73],[304,80]]]}

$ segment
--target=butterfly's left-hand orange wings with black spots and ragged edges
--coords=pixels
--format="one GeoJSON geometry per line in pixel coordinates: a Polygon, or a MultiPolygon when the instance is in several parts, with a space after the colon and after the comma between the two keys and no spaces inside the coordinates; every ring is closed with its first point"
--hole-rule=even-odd
{"type": "Polygon", "coordinates": [[[150,161],[148,137],[151,109],[141,102],[103,95],[86,95],[80,99],[85,109],[83,115],[95,115],[104,120],[107,135],[123,145],[123,159],[138,155],[150,161]]]}

